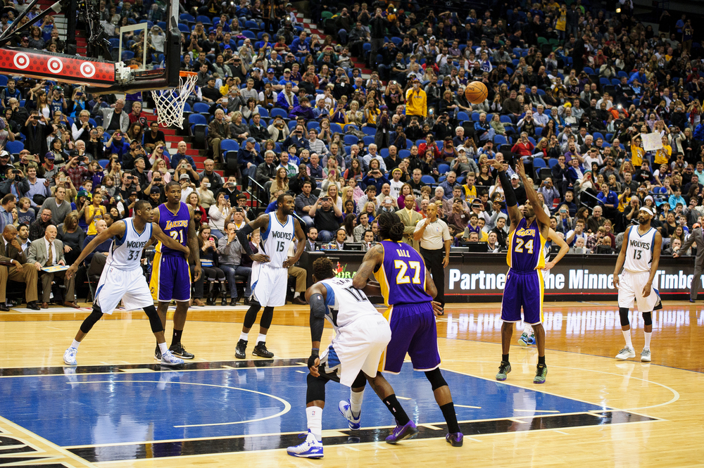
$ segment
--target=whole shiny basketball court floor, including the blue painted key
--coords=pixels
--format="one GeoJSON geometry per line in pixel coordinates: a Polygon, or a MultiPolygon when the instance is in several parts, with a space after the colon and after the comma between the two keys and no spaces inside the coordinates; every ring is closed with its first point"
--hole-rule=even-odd
{"type": "MultiPolygon", "coordinates": [[[[196,359],[180,372],[153,360],[143,312],[101,320],[82,343],[77,369],[63,366],[87,311],[0,313],[0,466],[225,467],[702,466],[704,319],[700,304],[665,304],[653,314],[653,362],[617,362],[622,347],[610,303],[546,305],[546,384],[532,384],[534,347],[513,346],[513,372],[494,379],[501,360],[498,304],[458,304],[438,319],[442,369],[450,385],[463,448],[444,441],[446,426],[422,373],[389,376],[420,434],[383,442],[394,422],[370,388],[363,429],[337,412],[348,397],[327,384],[325,458],[294,459],[287,445],[306,428],[304,362],[308,310],[277,309],[267,345],[273,360],[234,360],[246,308],[192,308],[182,339],[196,359]]],[[[636,353],[642,320],[631,317],[636,353]]],[[[171,324],[168,324],[170,334],[171,324]]],[[[253,332],[256,333],[256,326],[253,332]]],[[[323,341],[330,338],[326,329],[323,341]]],[[[520,331],[516,330],[513,341],[520,331]]]]}

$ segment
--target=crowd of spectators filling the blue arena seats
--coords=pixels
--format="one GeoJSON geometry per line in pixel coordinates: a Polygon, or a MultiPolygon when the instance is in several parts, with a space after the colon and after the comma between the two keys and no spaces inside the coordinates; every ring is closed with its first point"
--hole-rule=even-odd
{"type": "MultiPolygon", "coordinates": [[[[188,103],[191,116],[207,115],[212,154],[202,170],[187,141],[171,153],[141,93],[89,96],[8,77],[0,229],[13,226],[27,255],[32,241],[58,231],[70,263],[98,224],[130,216],[138,199],[162,203],[176,180],[196,227],[207,229],[199,239],[214,265],[220,240],[256,215],[246,191],[264,205],[295,196],[308,250],[366,250],[379,240],[382,211],[398,212],[415,244],[432,203],[453,245],[498,252],[508,226],[489,160],[510,156],[525,158],[542,209],[574,253],[617,251],[641,205],[655,210],[666,253],[689,248],[704,215],[704,72],[691,18],[663,13],[654,29],[628,3],[616,13],[579,0],[493,3],[466,16],[415,1],[308,6],[332,34],[308,34],[282,2],[182,5],[181,67],[198,73],[188,103]],[[486,84],[483,103],[465,99],[472,81],[486,84]],[[229,167],[226,177],[218,165],[229,167]]],[[[149,21],[147,55],[158,66],[160,8],[103,1],[101,23],[117,37],[120,25],[149,21]]],[[[16,13],[6,8],[0,27],[16,13]]],[[[49,23],[19,45],[61,51],[49,23]]],[[[141,60],[144,38],[122,39],[141,60]]],[[[234,283],[237,266],[215,267],[210,279],[234,283]]]]}

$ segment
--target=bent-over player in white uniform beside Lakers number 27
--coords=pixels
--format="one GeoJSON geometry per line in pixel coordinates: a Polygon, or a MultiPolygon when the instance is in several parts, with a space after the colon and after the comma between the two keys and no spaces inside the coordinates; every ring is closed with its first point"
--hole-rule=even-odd
{"type": "Polygon", "coordinates": [[[385,384],[393,398],[389,401],[389,398],[380,395],[382,401],[394,417],[408,420],[391,386],[386,381],[377,382],[375,377],[379,359],[391,341],[389,322],[370,303],[363,291],[352,286],[351,279],[335,278],[332,269],[329,258],[315,260],[313,280],[316,283],[306,291],[306,299],[310,303],[310,336],[313,341],[313,349],[308,358],[310,374],[306,392],[308,435],[301,445],[287,449],[287,453],[294,457],[322,458],[322,408],[325,407],[325,384],[329,380],[358,392],[359,398],[352,401],[351,405],[351,411],[357,417],[361,412],[362,391],[367,379],[375,389],[385,384]],[[332,323],[335,336],[319,357],[325,319],[332,323]]]}

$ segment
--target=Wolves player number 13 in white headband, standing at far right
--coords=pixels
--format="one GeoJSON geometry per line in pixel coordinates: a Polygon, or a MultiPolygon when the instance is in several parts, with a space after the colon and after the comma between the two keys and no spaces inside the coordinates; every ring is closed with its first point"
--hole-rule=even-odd
{"type": "Polygon", "coordinates": [[[624,234],[621,252],[616,260],[614,286],[618,289],[618,312],[621,317],[621,330],[626,339],[626,346],[616,355],[616,359],[635,358],[636,352],[631,343],[631,325],[628,310],[634,300],[639,312],[643,314],[643,330],[646,342],[641,353],[641,361],[650,362],[650,336],[653,334],[653,310],[662,308],[660,293],[653,288],[653,278],[660,263],[662,236],[654,227],[650,227],[653,211],[642,206],[638,212],[638,226],[631,226],[624,234]],[[623,273],[618,272],[623,267],[623,273]]]}

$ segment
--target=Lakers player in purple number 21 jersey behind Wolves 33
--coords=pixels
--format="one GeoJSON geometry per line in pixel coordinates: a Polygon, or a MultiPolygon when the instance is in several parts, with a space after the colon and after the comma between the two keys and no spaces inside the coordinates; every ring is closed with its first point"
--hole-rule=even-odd
{"type": "MultiPolygon", "coordinates": [[[[191,250],[190,259],[195,265],[196,277],[201,277],[201,260],[196,238],[196,227],[193,222],[193,208],[181,201],[181,186],[172,181],[166,184],[166,203],[154,210],[154,222],[159,224],[167,236],[182,246],[191,250]]],[[[151,281],[149,290],[155,301],[158,301],[158,312],[161,324],[166,327],[166,312],[169,303],[176,301],[174,312],[174,331],[169,350],[182,359],[193,359],[194,355],[187,352],[181,344],[183,327],[186,324],[189,301],[191,300],[191,272],[188,260],[184,255],[161,242],[156,245],[156,253],[151,266],[151,281]]],[[[161,350],[156,348],[154,359],[161,360],[161,350]]]]}

